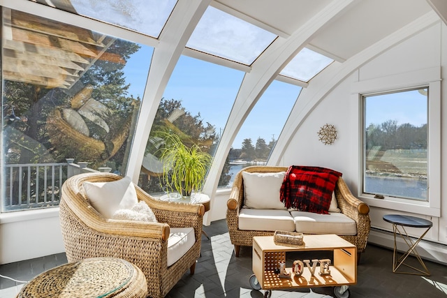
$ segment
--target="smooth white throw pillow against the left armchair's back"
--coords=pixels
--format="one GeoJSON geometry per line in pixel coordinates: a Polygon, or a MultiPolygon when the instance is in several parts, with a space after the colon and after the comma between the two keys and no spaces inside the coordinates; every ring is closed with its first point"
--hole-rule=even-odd
{"type": "Polygon", "coordinates": [[[130,177],[110,182],[85,181],[85,193],[91,204],[104,218],[112,218],[119,209],[132,209],[138,203],[130,177]]]}

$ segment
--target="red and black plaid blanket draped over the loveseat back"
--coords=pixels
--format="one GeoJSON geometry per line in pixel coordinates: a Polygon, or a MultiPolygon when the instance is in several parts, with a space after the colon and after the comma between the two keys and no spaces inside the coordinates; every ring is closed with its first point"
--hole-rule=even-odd
{"type": "Polygon", "coordinates": [[[280,200],[287,208],[328,214],[332,191],[342,173],[325,167],[291,165],[280,191],[280,200]]]}

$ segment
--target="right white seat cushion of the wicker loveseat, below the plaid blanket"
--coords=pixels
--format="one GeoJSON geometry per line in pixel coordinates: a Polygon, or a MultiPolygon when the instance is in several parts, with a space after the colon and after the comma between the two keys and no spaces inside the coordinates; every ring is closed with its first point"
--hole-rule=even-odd
{"type": "Polygon", "coordinates": [[[356,222],[342,213],[316,214],[291,211],[296,232],[306,234],[356,235],[356,222]]]}

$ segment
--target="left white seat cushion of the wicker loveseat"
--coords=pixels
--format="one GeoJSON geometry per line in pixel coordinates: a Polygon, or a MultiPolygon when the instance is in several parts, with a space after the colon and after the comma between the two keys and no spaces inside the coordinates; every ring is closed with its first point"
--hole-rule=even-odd
{"type": "Polygon", "coordinates": [[[295,230],[295,223],[287,210],[242,208],[238,223],[240,230],[289,232],[295,230]]]}

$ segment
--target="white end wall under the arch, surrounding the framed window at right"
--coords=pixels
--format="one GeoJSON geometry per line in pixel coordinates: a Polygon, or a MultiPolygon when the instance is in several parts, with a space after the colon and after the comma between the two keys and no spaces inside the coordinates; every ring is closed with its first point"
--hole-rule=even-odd
{"type": "MultiPolygon", "coordinates": [[[[369,61],[355,73],[337,84],[328,96],[315,107],[312,114],[305,119],[297,133],[293,136],[290,146],[286,149],[281,163],[284,165],[319,165],[330,167],[343,173],[346,183],[354,195],[358,195],[358,103],[353,93],[353,84],[390,75],[400,75],[427,68],[441,68],[441,217],[410,214],[427,218],[433,222],[433,228],[424,239],[434,241],[441,248],[424,249],[427,258],[447,263],[447,190],[442,181],[447,169],[447,27],[439,23],[425,29],[415,36],[396,45],[387,52],[369,61]],[[324,124],[332,124],[337,128],[338,138],[332,145],[324,145],[318,140],[317,132],[324,124]],[[444,206],[444,209],[442,207],[444,206]],[[437,251],[443,251],[439,254],[437,251]]],[[[312,83],[312,82],[311,82],[312,83]]],[[[315,86],[313,86],[315,87],[315,86]]],[[[293,115],[291,116],[293,117],[293,115]]],[[[402,213],[404,210],[393,210],[381,207],[371,208],[372,227],[391,230],[389,223],[383,221],[383,214],[402,213]]],[[[410,230],[410,234],[418,234],[420,229],[410,230]]],[[[390,235],[384,235],[374,230],[369,241],[392,247],[390,235]]],[[[426,245],[426,244],[424,244],[426,245]]]]}

